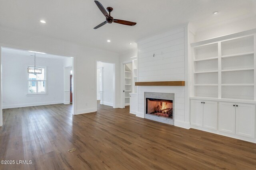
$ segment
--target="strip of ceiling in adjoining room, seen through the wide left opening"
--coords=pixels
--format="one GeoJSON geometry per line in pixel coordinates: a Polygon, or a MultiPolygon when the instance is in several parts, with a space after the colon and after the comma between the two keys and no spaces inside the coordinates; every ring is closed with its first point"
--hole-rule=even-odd
{"type": "MultiPolygon", "coordinates": [[[[11,48],[2,48],[2,56],[31,56],[35,55],[35,53],[26,51],[26,50],[20,50],[20,49],[11,49],[11,48]]],[[[36,53],[36,57],[42,57],[46,59],[58,59],[58,60],[66,60],[68,58],[71,59],[71,57],[66,57],[66,56],[60,56],[60,55],[51,55],[51,54],[41,54],[41,53],[36,53]]]]}

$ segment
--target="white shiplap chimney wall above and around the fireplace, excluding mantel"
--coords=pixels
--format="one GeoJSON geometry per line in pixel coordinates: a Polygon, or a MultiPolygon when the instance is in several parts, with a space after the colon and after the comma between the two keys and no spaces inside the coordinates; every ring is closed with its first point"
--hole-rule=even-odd
{"type": "MultiPolygon", "coordinates": [[[[140,41],[138,81],[185,80],[184,39],[184,27],[180,27],[140,41]]],[[[140,117],[144,117],[144,92],[175,93],[175,122],[184,121],[184,86],[139,86],[137,115],[140,117]]]]}

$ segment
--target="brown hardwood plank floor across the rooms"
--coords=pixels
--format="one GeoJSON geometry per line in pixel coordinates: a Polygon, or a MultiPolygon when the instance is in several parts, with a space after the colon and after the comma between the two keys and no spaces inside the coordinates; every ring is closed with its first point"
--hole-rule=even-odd
{"type": "Polygon", "coordinates": [[[0,160],[32,164],[0,169],[256,169],[254,143],[142,119],[128,107],[71,111],[64,104],[4,109],[0,160]]]}

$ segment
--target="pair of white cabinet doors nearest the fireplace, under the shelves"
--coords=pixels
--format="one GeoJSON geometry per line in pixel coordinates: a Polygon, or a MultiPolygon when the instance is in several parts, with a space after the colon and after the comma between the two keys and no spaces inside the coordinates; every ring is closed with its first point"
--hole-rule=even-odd
{"type": "Polygon", "coordinates": [[[217,129],[217,102],[191,100],[191,125],[217,129]]]}

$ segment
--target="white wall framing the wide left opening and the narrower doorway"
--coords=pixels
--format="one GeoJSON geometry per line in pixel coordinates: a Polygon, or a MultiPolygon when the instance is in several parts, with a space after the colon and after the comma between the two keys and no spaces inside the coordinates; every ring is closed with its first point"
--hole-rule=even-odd
{"type": "MultiPolygon", "coordinates": [[[[74,114],[97,110],[96,98],[96,60],[115,63],[119,70],[119,54],[102,49],[78,45],[68,41],[24,33],[19,30],[0,28],[0,46],[31,51],[41,51],[54,55],[74,57],[74,114]]],[[[117,99],[120,92],[119,72],[115,71],[117,99]]],[[[115,100],[115,105],[119,100],[115,100]]],[[[0,110],[2,104],[0,105],[0,110]]]]}

